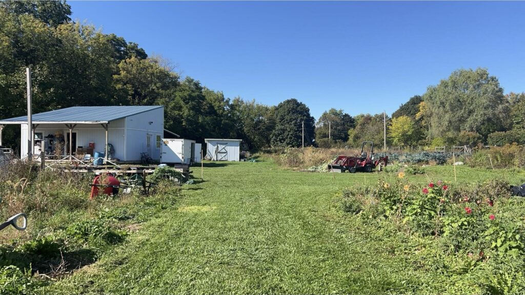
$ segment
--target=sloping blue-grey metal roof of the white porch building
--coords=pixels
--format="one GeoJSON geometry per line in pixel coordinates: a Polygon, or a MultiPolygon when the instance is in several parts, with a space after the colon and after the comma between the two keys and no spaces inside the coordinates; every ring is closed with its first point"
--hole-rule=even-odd
{"type": "MultiPolygon", "coordinates": [[[[33,114],[33,124],[69,123],[98,124],[119,120],[162,106],[111,106],[111,107],[71,107],[44,113],[33,114]]],[[[27,116],[0,120],[0,124],[24,124],[27,116]]]]}

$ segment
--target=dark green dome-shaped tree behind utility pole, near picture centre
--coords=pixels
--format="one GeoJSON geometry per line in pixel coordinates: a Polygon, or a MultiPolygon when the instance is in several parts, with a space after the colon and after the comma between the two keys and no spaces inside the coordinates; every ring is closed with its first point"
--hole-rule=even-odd
{"type": "Polygon", "coordinates": [[[314,139],[315,119],[310,115],[306,104],[297,99],[287,99],[277,105],[275,110],[276,126],[271,133],[272,146],[302,145],[302,124],[304,123],[304,145],[310,145],[314,139]]]}

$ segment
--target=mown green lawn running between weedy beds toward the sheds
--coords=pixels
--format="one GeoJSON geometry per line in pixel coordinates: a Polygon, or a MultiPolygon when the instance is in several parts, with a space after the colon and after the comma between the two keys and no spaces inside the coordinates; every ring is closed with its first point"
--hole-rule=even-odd
{"type": "MultiPolygon", "coordinates": [[[[452,181],[452,171],[436,167],[428,176],[408,177],[452,181]]],[[[195,167],[194,175],[200,173],[195,167]]],[[[463,180],[496,175],[525,176],[458,167],[463,180]]],[[[283,170],[270,161],[205,163],[205,182],[184,186],[172,208],[52,292],[403,293],[432,274],[406,259],[411,250],[393,254],[381,234],[354,226],[334,201],[342,188],[380,177],[344,173],[334,180],[333,174],[283,170]]]]}

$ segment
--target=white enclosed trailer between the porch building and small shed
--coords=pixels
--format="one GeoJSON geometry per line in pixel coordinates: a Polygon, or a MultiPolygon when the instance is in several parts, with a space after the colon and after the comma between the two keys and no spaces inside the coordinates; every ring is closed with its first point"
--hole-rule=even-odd
{"type": "Polygon", "coordinates": [[[186,164],[201,163],[202,144],[190,139],[163,138],[161,163],[186,164]]]}

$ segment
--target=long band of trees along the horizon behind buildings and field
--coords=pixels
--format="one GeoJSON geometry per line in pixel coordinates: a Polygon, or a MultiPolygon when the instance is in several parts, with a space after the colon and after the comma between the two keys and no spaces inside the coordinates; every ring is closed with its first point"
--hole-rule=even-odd
{"type": "MultiPolygon", "coordinates": [[[[330,109],[316,121],[306,104],[226,98],[138,44],[73,22],[65,1],[0,2],[0,118],[24,115],[25,67],[33,69],[35,113],[72,106],[165,107],[165,128],[183,138],[243,139],[249,149],[314,145],[524,143],[525,93],[503,94],[486,69],[457,70],[392,116],[330,109]],[[304,131],[304,136],[303,136],[304,131]]],[[[4,131],[19,144],[19,128],[4,131]]]]}

